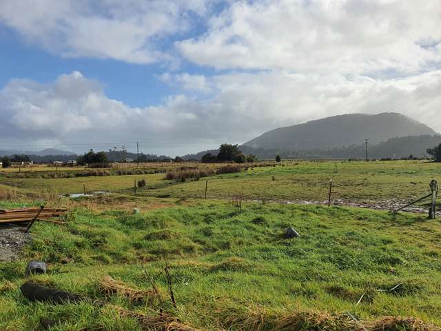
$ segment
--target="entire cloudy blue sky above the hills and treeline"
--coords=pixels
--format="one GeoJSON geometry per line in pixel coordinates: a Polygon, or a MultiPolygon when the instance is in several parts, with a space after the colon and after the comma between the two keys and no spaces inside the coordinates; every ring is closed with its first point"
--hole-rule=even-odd
{"type": "Polygon", "coordinates": [[[441,132],[441,1],[0,1],[0,150],[175,156],[379,112],[441,132]]]}

